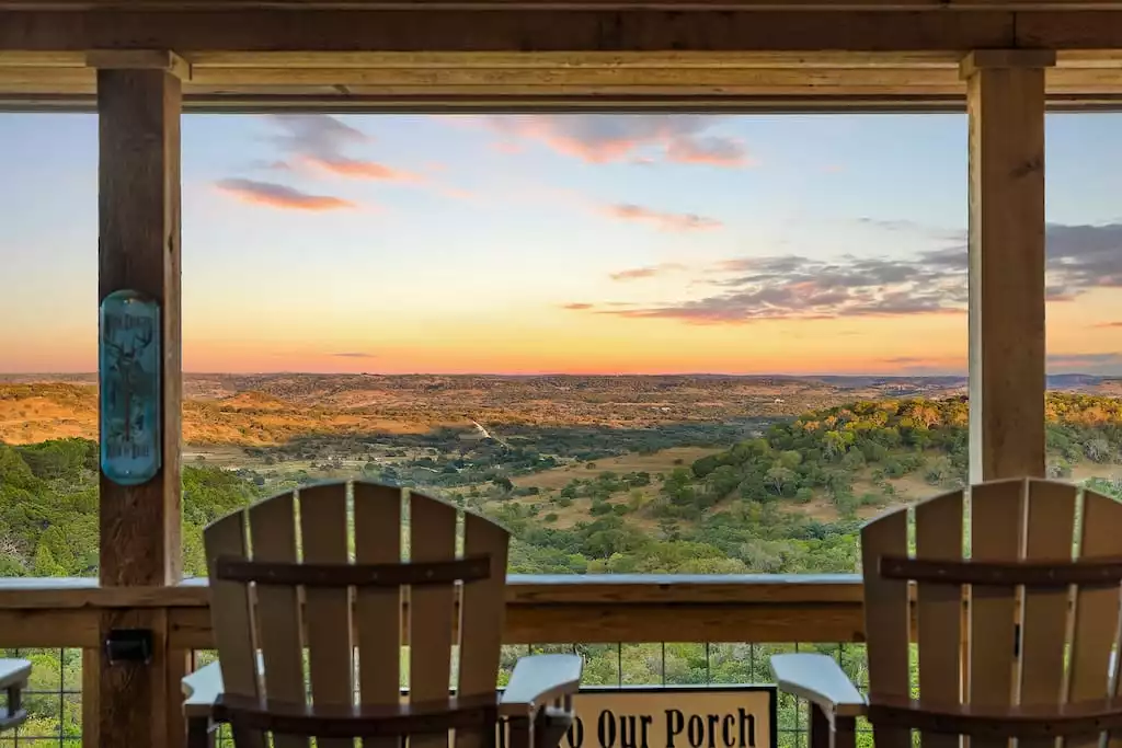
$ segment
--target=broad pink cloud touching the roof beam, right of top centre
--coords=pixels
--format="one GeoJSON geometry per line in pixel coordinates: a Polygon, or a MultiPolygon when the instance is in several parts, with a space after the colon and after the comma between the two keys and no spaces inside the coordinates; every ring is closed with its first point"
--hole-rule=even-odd
{"type": "Polygon", "coordinates": [[[649,163],[659,157],[674,164],[752,165],[741,140],[709,132],[725,119],[709,114],[508,114],[486,121],[506,138],[496,147],[511,153],[522,139],[590,164],[649,163]]]}

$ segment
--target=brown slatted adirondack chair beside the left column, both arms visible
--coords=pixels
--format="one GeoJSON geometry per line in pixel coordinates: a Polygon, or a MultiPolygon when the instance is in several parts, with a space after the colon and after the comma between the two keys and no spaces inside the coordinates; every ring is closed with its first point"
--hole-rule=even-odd
{"type": "Polygon", "coordinates": [[[454,506],[355,482],[351,561],[347,504],[347,483],[302,488],[204,530],[219,659],[183,681],[191,748],[212,745],[221,722],[237,748],[264,748],[268,733],[276,748],[310,737],[319,748],[491,748],[503,729],[511,748],[554,748],[581,658],[524,657],[498,696],[506,530],[463,512],[458,554],[454,506]]]}

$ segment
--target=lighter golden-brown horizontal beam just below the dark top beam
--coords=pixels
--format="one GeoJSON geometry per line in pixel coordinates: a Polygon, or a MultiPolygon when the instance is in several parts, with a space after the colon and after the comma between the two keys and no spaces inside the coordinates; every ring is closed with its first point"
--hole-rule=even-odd
{"type": "MultiPolygon", "coordinates": [[[[100,56],[91,59],[104,62],[100,56]]],[[[1122,58],[1114,57],[1111,62],[1107,65],[1104,57],[1069,58],[1063,66],[1049,68],[1049,99],[1093,101],[1122,96],[1122,58]]],[[[21,102],[29,108],[37,103],[55,109],[89,107],[94,101],[96,71],[62,63],[62,58],[52,61],[46,55],[0,55],[0,108],[19,109],[21,102]]],[[[183,62],[180,66],[187,68],[188,64],[183,62]]],[[[852,110],[876,100],[895,101],[904,110],[909,101],[962,108],[966,94],[957,65],[931,58],[917,67],[873,64],[636,67],[605,63],[571,67],[386,64],[286,68],[194,63],[190,71],[191,80],[183,83],[187,109],[231,111],[268,107],[341,110],[384,107],[407,111],[415,104],[505,109],[517,108],[519,102],[551,101],[569,102],[573,109],[585,104],[629,109],[657,108],[659,100],[699,110],[753,104],[766,109],[769,102],[781,107],[784,99],[792,100],[795,109],[806,110],[828,108],[831,103],[839,110],[852,110]],[[802,99],[806,101],[799,104],[797,100],[802,99]]]]}

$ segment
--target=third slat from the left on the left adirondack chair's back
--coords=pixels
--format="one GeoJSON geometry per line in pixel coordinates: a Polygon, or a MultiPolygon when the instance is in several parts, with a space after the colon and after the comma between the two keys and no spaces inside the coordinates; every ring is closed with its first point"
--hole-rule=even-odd
{"type": "MultiPolygon", "coordinates": [[[[347,487],[342,483],[300,490],[300,528],[304,560],[341,563],[347,553],[347,487]]],[[[346,589],[304,590],[304,630],[312,676],[312,701],[355,703],[350,593],[346,589]]],[[[320,738],[318,748],[353,748],[347,738],[320,738]]]]}

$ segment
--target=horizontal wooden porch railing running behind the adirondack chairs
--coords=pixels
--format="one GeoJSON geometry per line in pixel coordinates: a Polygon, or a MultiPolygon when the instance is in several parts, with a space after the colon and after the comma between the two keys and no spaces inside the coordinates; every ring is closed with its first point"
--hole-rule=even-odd
{"type": "MultiPolygon", "coordinates": [[[[504,640],[530,644],[862,641],[857,575],[512,575],[504,640]]],[[[407,613],[408,603],[404,612],[407,613]]],[[[167,662],[213,648],[205,579],[173,587],[100,587],[95,579],[0,579],[0,648],[84,652],[84,748],[98,745],[95,653],[104,613],[126,626],[155,620],[167,662]],[[151,616],[150,613],[157,613],[151,616]]],[[[407,634],[407,628],[403,631],[407,634]]],[[[158,698],[168,733],[178,726],[178,683],[158,698]],[[164,711],[166,709],[166,711],[164,711]]]]}

